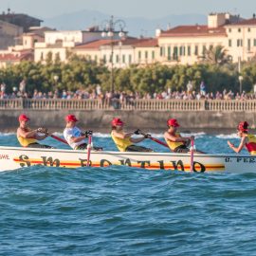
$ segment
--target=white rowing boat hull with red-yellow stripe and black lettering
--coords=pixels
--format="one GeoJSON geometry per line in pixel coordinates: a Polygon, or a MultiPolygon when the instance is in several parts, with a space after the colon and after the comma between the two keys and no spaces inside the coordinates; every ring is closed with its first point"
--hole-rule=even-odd
{"type": "MultiPolygon", "coordinates": [[[[0,147],[0,171],[33,165],[81,168],[86,167],[86,151],[0,147]]],[[[126,165],[149,170],[191,171],[190,154],[91,152],[91,167],[126,165]]],[[[193,172],[256,173],[256,156],[193,155],[193,172]]]]}

